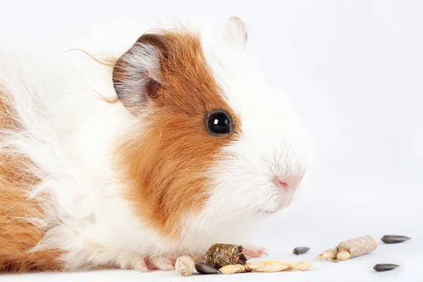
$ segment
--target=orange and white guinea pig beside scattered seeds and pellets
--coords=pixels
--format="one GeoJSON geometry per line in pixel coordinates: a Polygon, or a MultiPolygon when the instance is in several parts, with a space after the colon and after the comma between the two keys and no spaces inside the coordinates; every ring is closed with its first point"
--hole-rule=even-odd
{"type": "Polygon", "coordinates": [[[310,140],[242,20],[137,37],[102,58],[0,47],[0,271],[173,269],[297,194],[310,140]]]}

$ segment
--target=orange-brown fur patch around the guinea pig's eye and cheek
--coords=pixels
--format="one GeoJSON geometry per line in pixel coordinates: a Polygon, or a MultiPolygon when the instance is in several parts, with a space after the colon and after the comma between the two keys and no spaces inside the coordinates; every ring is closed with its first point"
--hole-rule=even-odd
{"type": "Polygon", "coordinates": [[[203,173],[219,149],[235,140],[240,121],[219,95],[222,90],[205,62],[199,37],[185,31],[160,32],[159,37],[143,35],[139,41],[161,51],[164,83],[150,97],[152,106],[145,106],[150,114],[118,148],[118,168],[123,168],[126,197],[136,214],[165,235],[176,236],[183,216],[204,206],[209,187],[203,173]],[[233,133],[207,133],[204,118],[218,109],[231,114],[233,133]]]}

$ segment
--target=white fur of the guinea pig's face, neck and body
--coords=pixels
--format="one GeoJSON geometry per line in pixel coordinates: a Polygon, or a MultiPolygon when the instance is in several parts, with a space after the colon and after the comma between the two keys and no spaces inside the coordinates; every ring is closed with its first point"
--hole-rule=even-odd
{"type": "MultiPolygon", "coordinates": [[[[104,46],[106,53],[123,54],[146,30],[123,42],[123,29],[119,37],[109,35],[107,44],[88,51],[104,46]]],[[[147,255],[166,265],[161,257],[239,242],[233,234],[276,209],[283,195],[272,179],[305,173],[309,140],[288,99],[262,78],[248,44],[236,41],[245,36],[228,32],[236,28],[204,27],[202,46],[224,99],[241,118],[242,133],[216,155],[216,165],[209,168],[213,190],[207,206],[200,215],[187,216],[177,241],[147,227],[121,197],[123,185],[114,175],[111,151],[135,117],[121,104],[97,97],[114,97],[110,73],[76,51],[33,56],[30,50],[30,56],[23,56],[0,46],[0,85],[25,125],[23,132],[8,132],[1,149],[26,154],[39,166],[35,169],[42,183],[30,197],[44,191],[52,195],[44,203],[47,218],[29,219],[49,228],[35,250],[66,250],[68,269],[116,265],[145,270],[142,258],[147,255]]]]}

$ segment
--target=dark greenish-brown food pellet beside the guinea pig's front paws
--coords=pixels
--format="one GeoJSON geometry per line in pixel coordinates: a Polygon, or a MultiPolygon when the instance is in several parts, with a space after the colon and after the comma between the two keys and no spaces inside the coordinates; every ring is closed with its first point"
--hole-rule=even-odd
{"type": "Polygon", "coordinates": [[[242,264],[247,262],[243,254],[242,245],[214,244],[206,252],[206,262],[216,269],[226,265],[242,264]]]}

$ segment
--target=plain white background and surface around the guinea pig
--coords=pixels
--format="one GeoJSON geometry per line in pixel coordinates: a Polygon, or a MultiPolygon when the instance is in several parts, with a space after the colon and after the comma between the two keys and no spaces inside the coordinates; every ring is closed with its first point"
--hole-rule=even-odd
{"type": "Polygon", "coordinates": [[[206,15],[243,18],[260,65],[312,133],[317,165],[302,202],[254,243],[307,272],[178,277],[175,271],[0,276],[5,281],[423,281],[423,1],[3,1],[0,31],[70,43],[97,21],[206,15]],[[333,264],[319,252],[360,235],[412,240],[333,264]],[[301,257],[290,252],[307,245],[301,257]],[[376,273],[376,263],[400,268],[376,273]]]}

